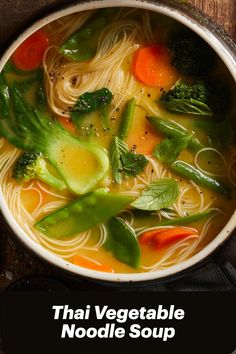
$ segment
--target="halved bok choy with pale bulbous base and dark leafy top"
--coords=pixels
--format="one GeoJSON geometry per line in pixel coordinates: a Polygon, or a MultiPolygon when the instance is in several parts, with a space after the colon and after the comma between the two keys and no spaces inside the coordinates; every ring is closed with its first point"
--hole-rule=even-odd
{"type": "Polygon", "coordinates": [[[3,83],[4,94],[7,90],[10,97],[10,113],[5,118],[0,107],[2,136],[20,149],[41,153],[71,192],[84,194],[94,189],[109,168],[105,150],[72,136],[56,119],[29,105],[16,87],[3,83]]]}

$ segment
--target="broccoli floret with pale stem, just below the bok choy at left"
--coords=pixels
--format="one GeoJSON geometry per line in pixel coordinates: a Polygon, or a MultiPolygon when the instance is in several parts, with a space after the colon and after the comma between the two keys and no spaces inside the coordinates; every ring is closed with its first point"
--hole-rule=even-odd
{"type": "Polygon", "coordinates": [[[47,162],[39,152],[25,151],[15,164],[13,178],[19,183],[39,179],[60,191],[67,188],[63,179],[49,172],[47,162]]]}

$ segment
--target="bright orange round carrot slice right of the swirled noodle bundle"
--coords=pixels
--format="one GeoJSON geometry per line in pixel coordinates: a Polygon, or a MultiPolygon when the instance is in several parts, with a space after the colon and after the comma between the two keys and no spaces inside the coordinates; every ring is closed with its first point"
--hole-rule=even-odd
{"type": "Polygon", "coordinates": [[[150,87],[170,88],[178,73],[171,65],[171,54],[162,44],[139,48],[134,54],[132,72],[136,79],[150,87]]]}

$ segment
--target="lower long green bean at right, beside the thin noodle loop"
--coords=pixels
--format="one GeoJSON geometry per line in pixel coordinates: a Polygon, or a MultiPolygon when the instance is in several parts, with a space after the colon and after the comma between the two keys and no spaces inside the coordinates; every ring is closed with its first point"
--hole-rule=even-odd
{"type": "Polygon", "coordinates": [[[180,176],[186,177],[203,187],[210,188],[218,193],[224,194],[225,196],[229,196],[229,188],[222,182],[205,175],[184,161],[175,161],[170,165],[170,167],[180,176]]]}

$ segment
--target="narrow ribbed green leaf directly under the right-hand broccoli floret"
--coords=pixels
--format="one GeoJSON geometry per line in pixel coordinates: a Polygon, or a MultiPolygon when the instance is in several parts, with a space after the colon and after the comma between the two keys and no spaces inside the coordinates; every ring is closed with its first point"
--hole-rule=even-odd
{"type": "Polygon", "coordinates": [[[162,105],[170,112],[195,114],[201,116],[212,116],[211,108],[201,101],[190,99],[172,99],[170,101],[162,102],[162,105]]]}

